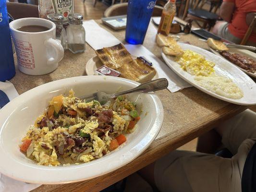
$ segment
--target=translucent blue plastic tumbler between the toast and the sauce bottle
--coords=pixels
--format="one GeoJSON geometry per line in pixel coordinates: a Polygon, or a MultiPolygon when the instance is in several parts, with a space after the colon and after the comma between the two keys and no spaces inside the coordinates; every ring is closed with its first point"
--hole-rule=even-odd
{"type": "Polygon", "coordinates": [[[128,0],[125,41],[143,44],[156,0],[128,0]]]}

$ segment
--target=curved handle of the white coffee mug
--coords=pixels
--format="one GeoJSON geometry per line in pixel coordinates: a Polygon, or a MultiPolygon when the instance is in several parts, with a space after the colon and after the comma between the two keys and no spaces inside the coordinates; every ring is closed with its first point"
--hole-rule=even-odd
{"type": "Polygon", "coordinates": [[[45,40],[45,46],[52,47],[56,52],[56,57],[51,57],[47,60],[48,65],[58,63],[62,60],[62,58],[64,57],[64,49],[61,43],[59,43],[57,40],[53,38],[49,38],[45,40]]]}

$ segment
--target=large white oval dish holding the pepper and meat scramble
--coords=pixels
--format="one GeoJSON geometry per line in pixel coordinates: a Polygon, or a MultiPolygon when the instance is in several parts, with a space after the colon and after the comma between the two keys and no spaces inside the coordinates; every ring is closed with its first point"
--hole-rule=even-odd
{"type": "Polygon", "coordinates": [[[123,146],[91,162],[67,167],[40,166],[21,153],[18,145],[53,96],[67,95],[71,88],[79,97],[96,91],[113,93],[137,85],[118,77],[81,76],[43,84],[16,97],[0,109],[0,173],[29,183],[60,184],[92,179],[129,163],[154,141],[161,128],[163,107],[155,94],[129,95],[138,110],[143,109],[138,128],[127,134],[123,146]]]}

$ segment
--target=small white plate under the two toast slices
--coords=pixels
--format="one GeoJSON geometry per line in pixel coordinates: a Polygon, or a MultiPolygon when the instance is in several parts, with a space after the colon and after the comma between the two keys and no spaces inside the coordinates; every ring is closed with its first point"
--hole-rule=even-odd
{"type": "MultiPolygon", "coordinates": [[[[136,57],[132,56],[133,59],[136,57]]],[[[98,59],[98,56],[91,58],[90,60],[87,61],[85,65],[85,72],[87,75],[98,75],[95,70],[97,70],[99,67],[101,67],[103,64],[102,62],[98,59]]],[[[154,65],[152,66],[154,68],[154,65]]],[[[152,78],[152,80],[158,79],[158,72],[156,75],[152,78]]]]}

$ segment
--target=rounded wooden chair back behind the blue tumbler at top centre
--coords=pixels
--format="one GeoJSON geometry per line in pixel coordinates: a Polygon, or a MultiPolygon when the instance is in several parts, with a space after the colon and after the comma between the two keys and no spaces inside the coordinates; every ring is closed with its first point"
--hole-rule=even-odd
{"type": "MultiPolygon", "coordinates": [[[[110,6],[105,12],[104,17],[111,17],[117,15],[126,15],[127,14],[128,3],[120,3],[110,6]]],[[[152,16],[161,16],[163,8],[156,5],[153,11],[152,16]]]]}

